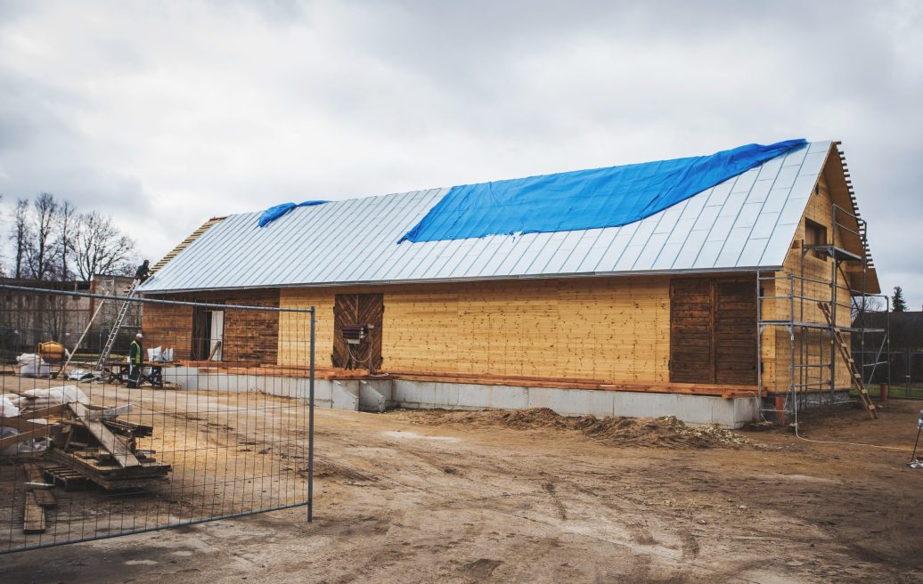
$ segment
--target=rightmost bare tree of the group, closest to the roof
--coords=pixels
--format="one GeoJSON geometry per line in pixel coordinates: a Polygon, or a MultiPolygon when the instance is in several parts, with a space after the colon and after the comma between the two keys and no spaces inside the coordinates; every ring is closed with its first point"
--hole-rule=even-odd
{"type": "Polygon", "coordinates": [[[78,215],[72,251],[81,280],[90,280],[93,274],[134,273],[135,242],[96,211],[78,215]]]}

